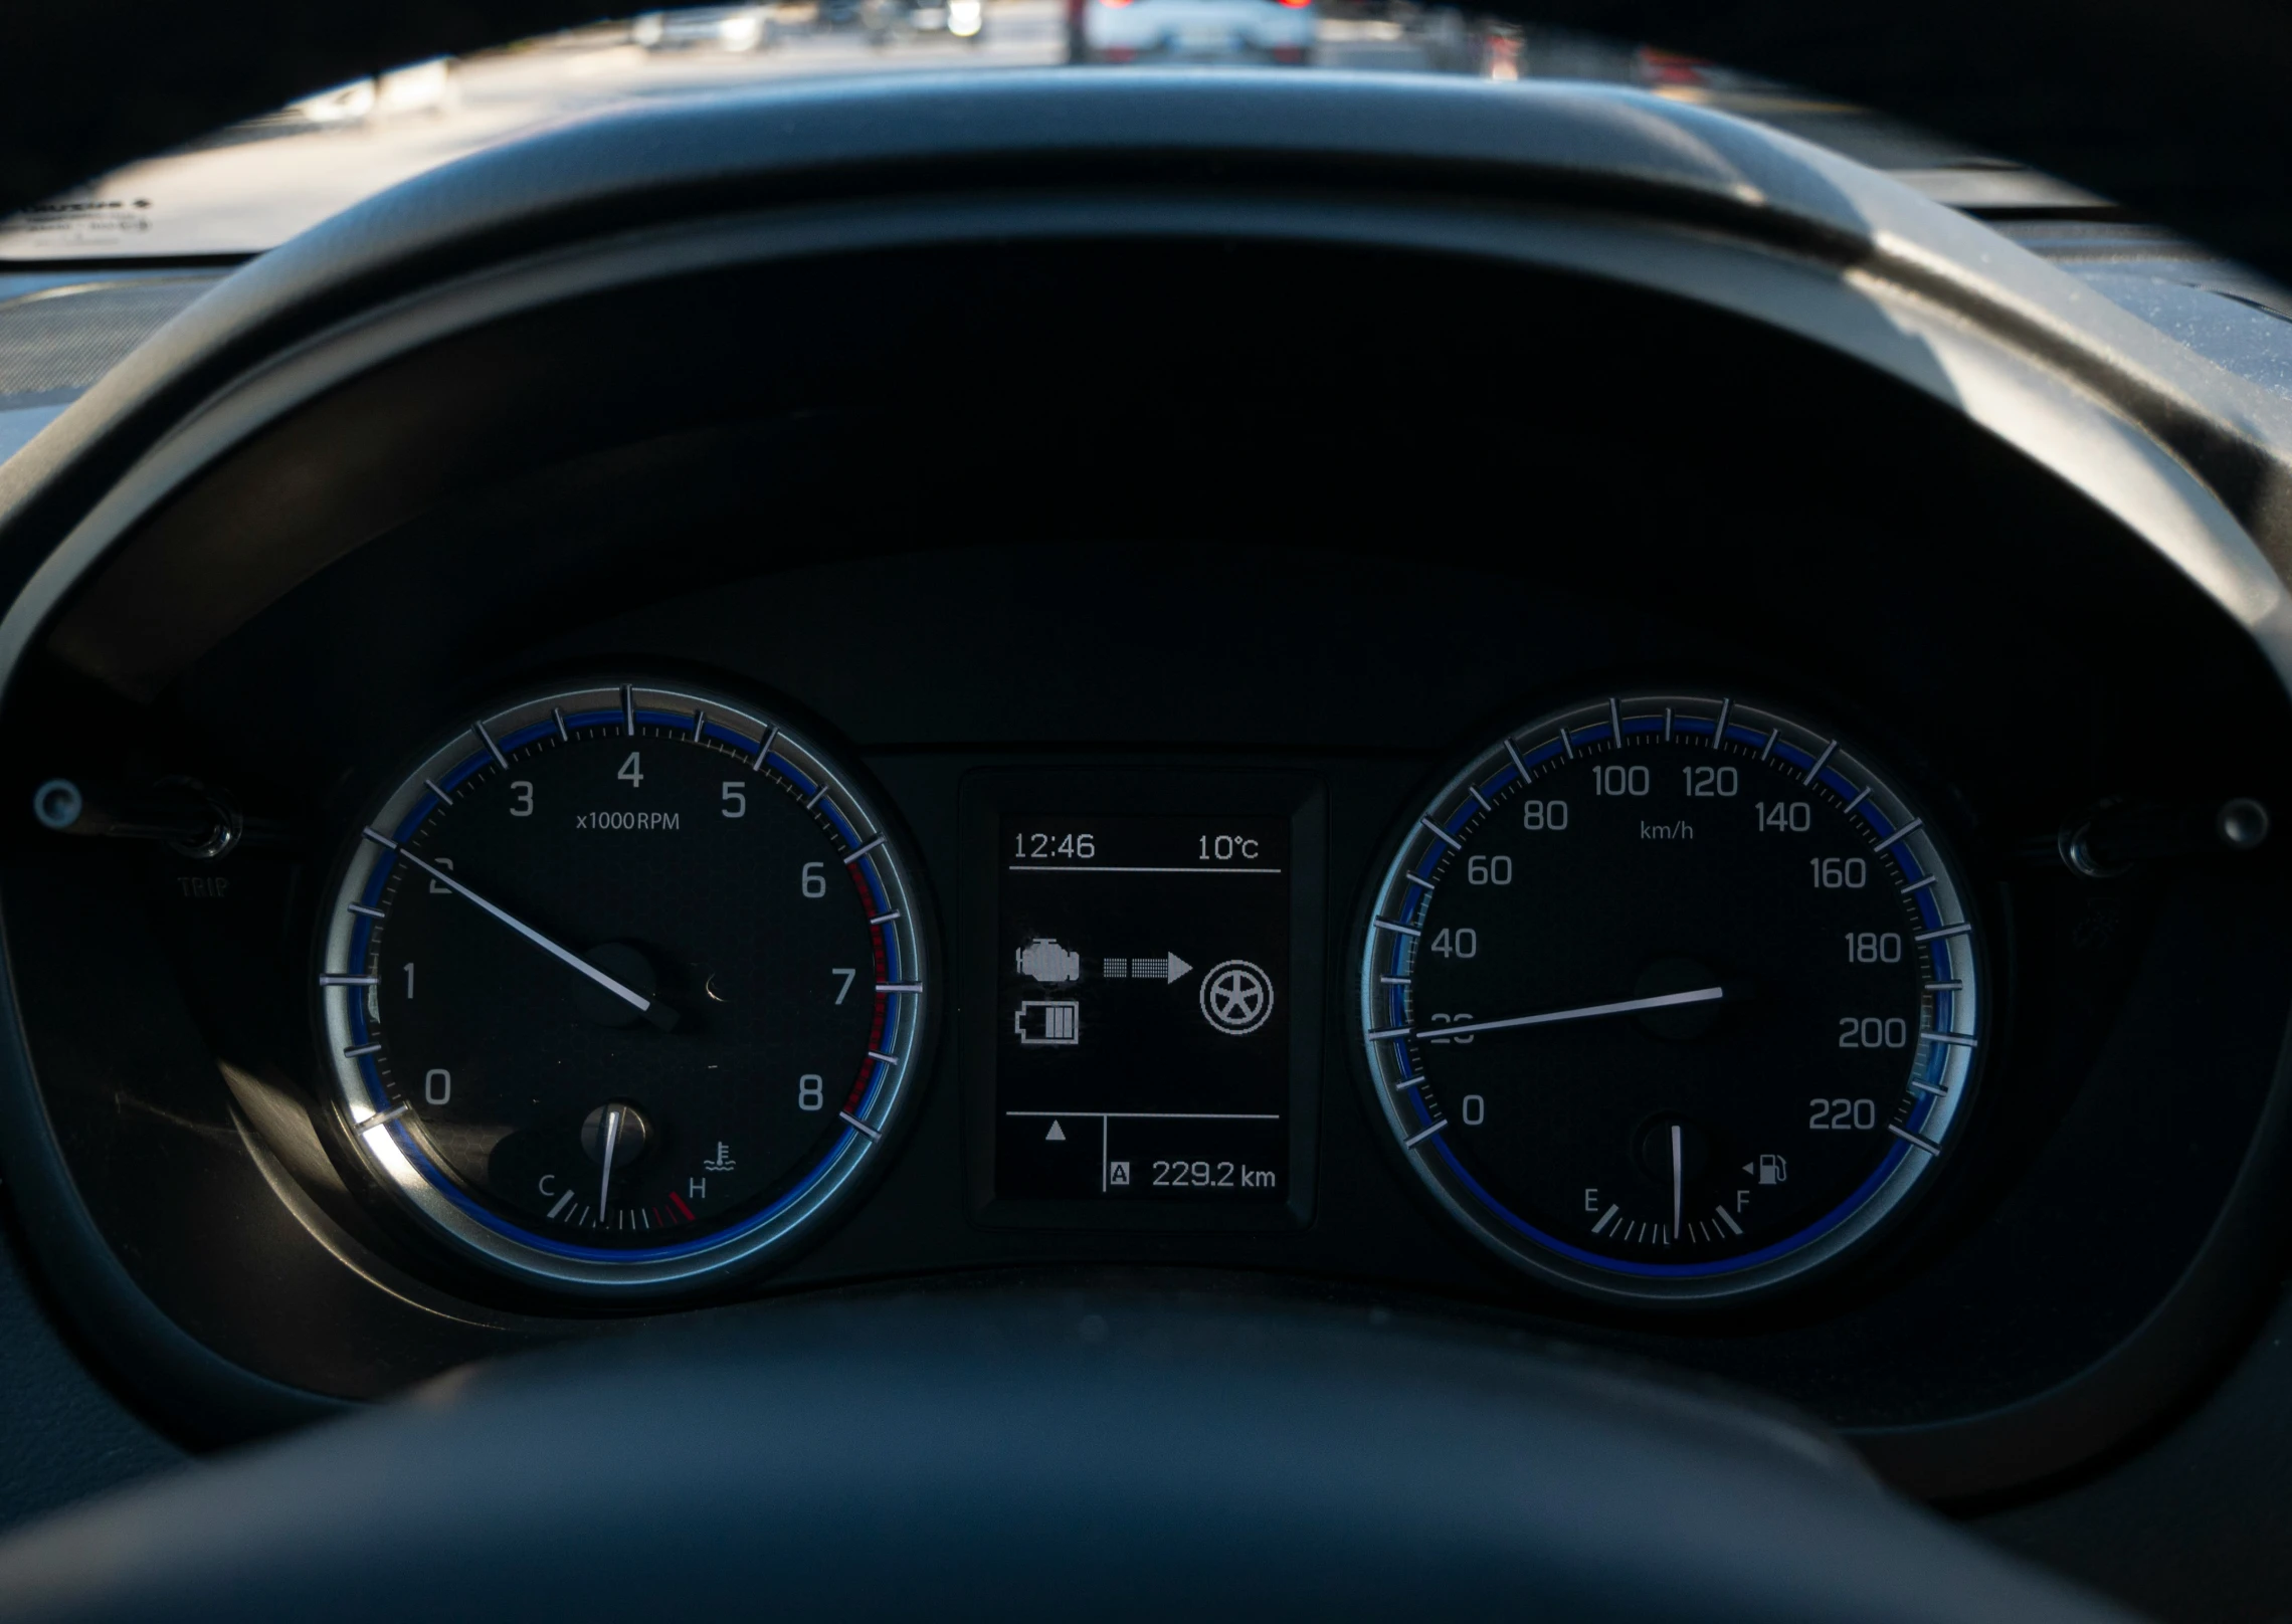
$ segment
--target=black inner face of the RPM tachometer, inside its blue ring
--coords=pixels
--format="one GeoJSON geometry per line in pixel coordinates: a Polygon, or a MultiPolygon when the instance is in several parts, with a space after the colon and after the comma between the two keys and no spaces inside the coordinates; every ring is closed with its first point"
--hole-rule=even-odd
{"type": "Polygon", "coordinates": [[[660,724],[630,735],[589,726],[525,744],[507,770],[479,767],[403,850],[452,854],[456,880],[575,953],[614,948],[607,969],[678,1015],[674,1031],[656,1031],[470,902],[440,896],[413,864],[392,868],[387,919],[369,941],[378,957],[360,967],[380,973],[376,1067],[392,1104],[413,1106],[419,1134],[493,1212],[601,1251],[692,1241],[786,1189],[843,1134],[837,1111],[869,1047],[873,944],[866,909],[853,914],[841,848],[777,772],[752,772],[729,749],[660,724]],[[644,783],[617,779],[630,756],[644,783]],[[740,818],[722,815],[720,781],[743,788],[740,818]],[[534,788],[525,818],[509,811],[513,783],[534,788]],[[575,822],[667,811],[676,829],[575,822]],[[825,864],[816,902],[795,900],[804,861],[825,864]],[[401,962],[415,964],[413,999],[401,962]],[[857,971],[841,1006],[825,964],[857,971]],[[452,1074],[445,1104],[424,1097],[429,1067],[452,1074]],[[791,1104],[800,1074],[823,1079],[814,1113],[791,1104]],[[532,1104],[513,1097],[527,1086],[532,1104]],[[529,1193],[536,1175],[555,1175],[573,1189],[568,1212],[589,1212],[598,1170],[578,1134],[607,1102],[630,1102],[646,1122],[644,1145],[614,1173],[617,1212],[644,1212],[658,1230],[575,1230],[529,1193]],[[509,1134],[481,1143],[472,1120],[502,1118],[509,1134]],[[736,1148],[729,1173],[701,1170],[715,1141],[736,1148]],[[669,1198],[694,1173],[715,1200],[685,1189],[697,1212],[678,1223],[669,1198]]]}

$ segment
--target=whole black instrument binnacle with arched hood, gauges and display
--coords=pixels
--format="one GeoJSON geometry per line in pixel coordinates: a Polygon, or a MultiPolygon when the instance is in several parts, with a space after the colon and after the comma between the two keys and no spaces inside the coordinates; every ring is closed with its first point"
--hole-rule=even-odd
{"type": "Polygon", "coordinates": [[[1710,115],[1109,85],[876,92],[992,188],[850,92],[733,183],[635,119],[674,206],[610,124],[479,160],[14,474],[0,1109],[103,1356],[243,1438],[1265,1294],[1950,1503],[2189,1402],[2283,1221],[2285,408],[1710,115]]]}

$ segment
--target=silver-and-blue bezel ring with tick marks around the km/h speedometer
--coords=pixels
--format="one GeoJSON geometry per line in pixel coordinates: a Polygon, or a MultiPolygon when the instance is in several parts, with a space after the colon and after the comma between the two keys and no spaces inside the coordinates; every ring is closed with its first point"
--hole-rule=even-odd
{"type": "Polygon", "coordinates": [[[1444,822],[1458,811],[1478,811],[1485,806],[1478,790],[1510,788],[1522,765],[1533,774],[1554,756],[1604,749],[1618,724],[1627,735],[1648,726],[1669,726],[1701,738],[1710,738],[1724,724],[1728,742],[1751,747],[1765,742],[1783,760],[1820,772],[1824,788],[1831,788],[1829,779],[1836,776],[1847,790],[1840,795],[1831,788],[1840,799],[1854,799],[1854,790],[1866,790],[1852,811],[1875,809],[1886,822],[1882,829],[1870,818],[1861,818],[1873,838],[1893,836],[1909,825],[1909,831],[1889,845],[1905,848],[1918,870],[1934,877],[1934,884],[1918,893],[1921,912],[1930,900],[1930,928],[1967,925],[1962,935],[1923,944],[1928,951],[1946,953],[1950,973],[1941,980],[1955,980],[1957,990],[1941,994],[1950,999],[1948,1017],[1944,1019],[1937,1010],[1934,1019],[1941,1024],[1921,1028],[1921,1033],[1941,1031],[1967,1042],[1921,1040],[1914,1044],[1905,1072],[1905,1090],[1909,1090],[1909,1079],[1918,1077],[1921,1063],[1928,1065],[1925,1081],[1944,1090],[1941,1095],[1921,1093],[1921,1106],[1905,1127],[1944,1152],[1948,1150],[1953,1132],[1960,1129],[1973,1099],[1983,1056],[1987,955],[1983,953],[1985,932],[1973,886],[1964,877],[1964,866],[1957,861],[1948,834],[1895,788],[1898,774],[1875,770],[1870,754],[1847,733],[1813,726],[1804,710],[1776,708],[1758,699],[1742,701],[1726,694],[1653,687],[1611,689],[1533,712],[1526,722],[1497,733],[1483,749],[1467,751],[1430,795],[1412,793],[1403,804],[1398,829],[1384,843],[1366,907],[1355,916],[1350,951],[1355,964],[1352,1049],[1366,1063],[1366,1083],[1391,1134],[1391,1150],[1442,1212],[1504,1262],[1570,1292],[1636,1308],[1742,1303],[1804,1285],[1861,1251],[1882,1228],[1909,1209],[1914,1196],[1934,1184],[1932,1175],[1941,1154],[1895,1138],[1879,1168],[1840,1207],[1742,1260],[1719,1260],[1710,1267],[1604,1260],[1568,1246],[1559,1237],[1543,1235],[1533,1223],[1501,1207],[1494,1196],[1476,1191],[1439,1134],[1410,1143],[1426,1125],[1410,1120],[1405,1102],[1412,1099],[1412,1093],[1396,1088],[1412,1077],[1407,1056],[1391,1040],[1368,1038],[1368,1033],[1389,1031],[1384,1012],[1375,1008],[1382,990],[1377,976],[1391,973],[1380,971],[1380,955],[1391,941],[1405,939],[1380,928],[1380,921],[1405,923],[1410,893],[1428,896],[1405,877],[1437,845],[1426,820],[1444,822]],[[1634,728],[1634,722],[1641,726],[1634,728]],[[1476,802],[1478,806],[1474,806],[1476,802]]]}

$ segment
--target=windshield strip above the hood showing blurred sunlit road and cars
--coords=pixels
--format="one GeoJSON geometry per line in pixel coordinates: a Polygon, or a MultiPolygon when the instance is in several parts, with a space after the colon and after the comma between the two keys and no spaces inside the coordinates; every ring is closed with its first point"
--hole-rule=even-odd
{"type": "Polygon", "coordinates": [[[424,170],[568,117],[662,96],[869,73],[1073,64],[1570,78],[1776,124],[1937,202],[2099,199],[1861,108],[1650,46],[1407,0],[802,0],[649,11],[307,96],[0,220],[0,263],[234,259],[424,170]]]}

